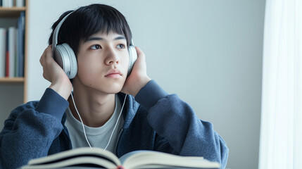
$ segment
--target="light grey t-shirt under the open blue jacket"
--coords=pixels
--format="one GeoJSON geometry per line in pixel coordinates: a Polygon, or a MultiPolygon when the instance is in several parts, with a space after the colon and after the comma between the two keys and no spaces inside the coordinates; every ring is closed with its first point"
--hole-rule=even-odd
{"type": "MultiPolygon", "coordinates": [[[[120,109],[121,109],[120,99],[118,99],[118,96],[115,95],[114,113],[103,126],[88,127],[87,125],[84,125],[87,139],[92,147],[99,147],[105,149],[105,147],[108,144],[111,133],[113,132],[115,123],[117,123],[118,115],[120,115],[120,109]]],[[[73,114],[71,113],[69,107],[66,110],[66,114],[67,114],[67,118],[66,118],[65,126],[68,128],[73,149],[82,146],[89,146],[84,136],[82,123],[79,120],[77,120],[75,117],[73,117],[73,114]]],[[[122,129],[123,123],[124,123],[124,119],[122,118],[122,115],[120,115],[120,119],[118,120],[118,125],[116,126],[113,132],[113,136],[111,138],[111,142],[108,145],[108,148],[106,149],[108,151],[113,152],[113,154],[115,154],[116,144],[118,142],[118,137],[120,135],[120,131],[122,129]]]]}

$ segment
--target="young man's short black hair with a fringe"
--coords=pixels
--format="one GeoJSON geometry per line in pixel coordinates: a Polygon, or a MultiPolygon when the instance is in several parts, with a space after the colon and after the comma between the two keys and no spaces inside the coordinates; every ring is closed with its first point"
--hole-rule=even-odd
{"type": "MultiPolygon", "coordinates": [[[[65,15],[71,12],[66,11],[63,13],[56,23],[52,25],[49,44],[52,44],[52,37],[58,23],[60,23],[65,15]]],[[[77,55],[80,41],[85,41],[88,37],[98,32],[107,34],[115,32],[124,35],[127,40],[127,47],[130,46],[132,33],[125,16],[112,6],[104,4],[82,6],[71,13],[61,25],[58,32],[58,44],[69,44],[75,55],[77,55]]]]}

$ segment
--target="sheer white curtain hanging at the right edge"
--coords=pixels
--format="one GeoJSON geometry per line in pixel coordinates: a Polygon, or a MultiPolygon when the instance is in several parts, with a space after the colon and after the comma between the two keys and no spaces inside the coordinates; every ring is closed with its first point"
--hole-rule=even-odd
{"type": "Polygon", "coordinates": [[[302,168],[302,0],[267,0],[259,169],[302,168]]]}

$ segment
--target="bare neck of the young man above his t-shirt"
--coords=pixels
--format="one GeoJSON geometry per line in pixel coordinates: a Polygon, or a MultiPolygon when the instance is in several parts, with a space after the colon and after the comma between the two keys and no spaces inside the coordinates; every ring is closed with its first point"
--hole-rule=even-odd
{"type": "MultiPolygon", "coordinates": [[[[77,89],[77,87],[74,87],[73,97],[84,125],[101,127],[113,115],[115,94],[103,94],[96,92],[94,89],[77,89]]],[[[68,99],[68,102],[73,116],[80,121],[71,97],[68,99]]]]}

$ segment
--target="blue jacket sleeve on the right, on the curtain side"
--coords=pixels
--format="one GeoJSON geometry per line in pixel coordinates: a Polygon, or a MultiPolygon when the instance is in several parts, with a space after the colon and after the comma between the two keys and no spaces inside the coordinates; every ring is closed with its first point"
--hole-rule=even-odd
{"type": "Polygon", "coordinates": [[[199,120],[191,106],[176,94],[167,94],[151,80],[139,91],[135,99],[149,110],[149,124],[156,133],[168,140],[177,154],[203,156],[225,168],[229,152],[225,141],[213,130],[211,123],[199,120]]]}

